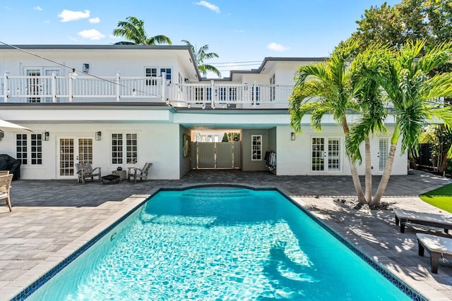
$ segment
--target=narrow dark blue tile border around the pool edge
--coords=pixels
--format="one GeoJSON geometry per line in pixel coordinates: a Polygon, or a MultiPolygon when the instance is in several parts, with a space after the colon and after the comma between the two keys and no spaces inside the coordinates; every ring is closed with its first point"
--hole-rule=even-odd
{"type": "Polygon", "coordinates": [[[215,186],[222,186],[222,187],[236,187],[236,188],[247,188],[250,190],[275,190],[278,191],[281,195],[283,195],[287,200],[289,200],[292,204],[294,204],[297,208],[301,209],[304,214],[307,214],[311,219],[313,219],[316,223],[319,224],[322,228],[324,228],[328,233],[331,233],[336,239],[340,240],[345,246],[347,246],[352,252],[357,254],[358,257],[364,260],[364,262],[367,262],[373,269],[375,269],[379,274],[381,274],[384,278],[386,278],[388,281],[393,283],[393,285],[396,285],[396,287],[405,293],[410,299],[415,301],[428,301],[427,298],[423,297],[419,292],[411,288],[409,285],[404,283],[400,280],[397,276],[393,275],[390,271],[388,271],[386,268],[381,266],[378,262],[376,262],[374,259],[369,257],[367,254],[362,252],[362,250],[359,250],[358,247],[350,243],[347,239],[343,238],[342,235],[334,231],[332,228],[328,227],[326,223],[321,221],[318,217],[314,216],[314,214],[311,214],[307,209],[305,209],[300,202],[297,202],[295,199],[292,199],[289,195],[287,195],[287,192],[285,190],[275,187],[267,187],[267,186],[253,186],[253,185],[240,185],[240,184],[230,184],[230,183],[208,183],[208,184],[195,184],[195,185],[184,185],[180,187],[165,187],[165,188],[155,188],[153,189],[149,196],[143,199],[143,201],[136,204],[132,209],[129,209],[124,215],[120,216],[119,219],[111,223],[107,228],[102,230],[100,233],[95,235],[94,238],[88,240],[82,247],[78,248],[75,252],[69,255],[69,257],[66,257],[63,261],[59,262],[56,266],[54,266],[52,269],[47,271],[42,277],[37,279],[37,281],[33,282],[31,285],[29,285],[27,288],[25,288],[23,291],[18,293],[18,295],[14,296],[11,301],[18,301],[18,300],[25,300],[27,297],[30,297],[32,293],[34,293],[36,290],[38,290],[44,283],[49,281],[52,277],[54,277],[56,274],[59,273],[64,267],[68,266],[75,260],[78,256],[80,256],[83,252],[88,250],[92,245],[95,244],[98,240],[100,240],[102,237],[104,237],[109,231],[112,231],[114,227],[116,227],[119,223],[124,221],[127,217],[129,217],[133,212],[135,212],[138,208],[140,208],[145,202],[148,201],[151,197],[153,197],[157,192],[159,191],[168,191],[168,190],[188,190],[192,188],[203,188],[203,187],[215,187],[215,186]]]}

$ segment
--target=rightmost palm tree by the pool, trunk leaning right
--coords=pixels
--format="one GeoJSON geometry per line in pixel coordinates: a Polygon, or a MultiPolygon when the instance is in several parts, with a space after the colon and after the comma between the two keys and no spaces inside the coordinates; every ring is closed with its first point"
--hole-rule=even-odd
{"type": "MultiPolygon", "coordinates": [[[[386,190],[400,139],[401,152],[417,155],[426,121],[442,121],[446,128],[452,128],[452,106],[437,100],[439,97],[452,97],[452,73],[428,76],[434,68],[451,60],[452,44],[439,44],[420,56],[424,46],[425,42],[422,41],[408,42],[393,57],[388,57],[381,65],[381,72],[373,76],[392,103],[393,112],[390,113],[396,125],[386,168],[371,205],[378,204],[386,190]]],[[[448,155],[452,156],[452,148],[448,155]]]]}

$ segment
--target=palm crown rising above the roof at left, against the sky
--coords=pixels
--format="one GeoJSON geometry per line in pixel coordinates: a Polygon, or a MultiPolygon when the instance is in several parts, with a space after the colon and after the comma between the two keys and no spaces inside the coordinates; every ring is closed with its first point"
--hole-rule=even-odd
{"type": "Polygon", "coordinates": [[[117,42],[114,44],[136,44],[136,45],[155,45],[169,44],[171,39],[165,35],[156,35],[148,37],[144,30],[144,21],[138,20],[136,17],[127,17],[125,21],[118,22],[118,28],[113,30],[115,37],[124,37],[127,41],[117,42]]]}

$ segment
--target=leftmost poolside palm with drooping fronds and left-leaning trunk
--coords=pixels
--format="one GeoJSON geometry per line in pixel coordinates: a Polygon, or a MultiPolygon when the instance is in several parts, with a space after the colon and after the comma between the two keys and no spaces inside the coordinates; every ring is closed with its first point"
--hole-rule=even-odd
{"type": "MultiPolygon", "coordinates": [[[[301,121],[307,113],[311,113],[311,125],[315,130],[321,130],[321,118],[332,113],[345,137],[349,135],[346,112],[348,109],[359,110],[349,69],[357,46],[357,41],[350,39],[341,43],[326,63],[301,66],[297,70],[297,83],[289,99],[290,125],[295,132],[301,133],[301,121]]],[[[366,199],[355,160],[350,159],[350,168],[358,200],[364,204],[366,199]]]]}

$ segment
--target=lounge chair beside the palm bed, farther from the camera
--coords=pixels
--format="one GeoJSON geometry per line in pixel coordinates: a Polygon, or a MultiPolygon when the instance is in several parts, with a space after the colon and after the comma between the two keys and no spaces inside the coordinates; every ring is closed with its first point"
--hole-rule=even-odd
{"type": "Polygon", "coordinates": [[[444,214],[421,213],[402,209],[394,210],[396,225],[400,223],[400,233],[405,233],[406,223],[443,228],[445,233],[452,229],[452,216],[444,214]]]}

